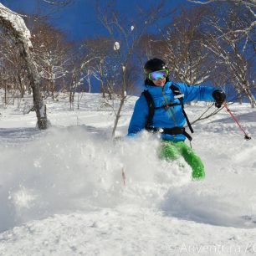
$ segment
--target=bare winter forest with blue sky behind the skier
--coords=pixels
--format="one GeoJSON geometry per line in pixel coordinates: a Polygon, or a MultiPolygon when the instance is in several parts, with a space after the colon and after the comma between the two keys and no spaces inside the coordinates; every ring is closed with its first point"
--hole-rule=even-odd
{"type": "MultiPolygon", "coordinates": [[[[255,107],[256,2],[248,1],[2,1],[31,33],[44,99],[100,92],[138,95],[143,64],[164,59],[171,79],[222,87],[229,101],[255,107]]],[[[15,40],[0,30],[3,105],[31,94],[28,70],[15,40]]],[[[116,122],[116,125],[117,125],[116,122]]]]}

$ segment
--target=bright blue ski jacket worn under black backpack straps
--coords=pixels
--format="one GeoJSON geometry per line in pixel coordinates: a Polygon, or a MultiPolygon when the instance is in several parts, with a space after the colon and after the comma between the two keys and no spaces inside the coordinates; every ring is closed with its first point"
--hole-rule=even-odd
{"type": "MultiPolygon", "coordinates": [[[[144,90],[148,90],[155,103],[155,114],[152,120],[152,128],[182,128],[186,119],[182,113],[182,105],[174,105],[170,107],[162,107],[165,105],[179,104],[180,101],[175,99],[170,86],[174,84],[172,81],[168,81],[163,87],[145,85],[144,90]]],[[[212,92],[217,90],[213,87],[207,86],[189,86],[187,84],[175,83],[175,86],[184,95],[183,102],[186,104],[192,100],[198,101],[213,101],[212,92]]],[[[127,136],[136,136],[136,134],[145,129],[147,115],[149,109],[144,95],[136,101],[133,115],[131,116],[131,122],[128,128],[127,136]]],[[[186,136],[161,134],[161,139],[167,141],[185,141],[186,136]]]]}

